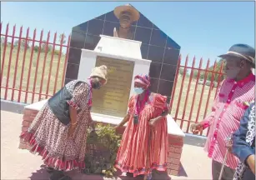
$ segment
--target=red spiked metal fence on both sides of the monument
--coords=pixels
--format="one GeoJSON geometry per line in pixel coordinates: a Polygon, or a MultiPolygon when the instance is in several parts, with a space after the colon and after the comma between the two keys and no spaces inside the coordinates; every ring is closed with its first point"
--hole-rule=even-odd
{"type": "MultiPolygon", "coordinates": [[[[16,26],[11,31],[9,28],[7,24],[6,31],[2,32],[1,23],[1,98],[33,103],[51,97],[64,84],[70,35],[55,32],[51,36],[51,32],[43,30],[37,34],[35,29],[29,37],[29,28],[25,33],[23,27],[19,31],[16,26]]],[[[182,65],[182,57],[178,58],[170,102],[174,120],[186,133],[191,122],[202,121],[210,111],[223,80],[223,62],[215,62],[210,67],[208,60],[203,67],[200,59],[197,67],[195,57],[193,61],[188,59],[187,56],[182,65]]]]}

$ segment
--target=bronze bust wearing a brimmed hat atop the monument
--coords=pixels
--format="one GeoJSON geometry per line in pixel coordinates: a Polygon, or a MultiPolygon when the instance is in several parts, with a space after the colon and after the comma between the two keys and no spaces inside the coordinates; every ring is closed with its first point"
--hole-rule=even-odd
{"type": "Polygon", "coordinates": [[[130,28],[133,22],[138,21],[139,13],[131,4],[115,7],[114,15],[119,19],[120,27],[113,28],[113,37],[133,39],[134,32],[130,28]]]}

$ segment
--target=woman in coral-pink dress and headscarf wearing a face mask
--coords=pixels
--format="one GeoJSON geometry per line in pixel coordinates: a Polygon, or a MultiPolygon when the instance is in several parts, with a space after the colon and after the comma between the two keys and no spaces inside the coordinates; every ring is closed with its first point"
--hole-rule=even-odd
{"type": "Polygon", "coordinates": [[[128,122],[118,150],[115,167],[133,177],[152,178],[152,171],[166,171],[168,133],[167,97],[149,92],[148,75],[138,75],[134,80],[137,95],[130,98],[128,114],[116,127],[128,122]]]}

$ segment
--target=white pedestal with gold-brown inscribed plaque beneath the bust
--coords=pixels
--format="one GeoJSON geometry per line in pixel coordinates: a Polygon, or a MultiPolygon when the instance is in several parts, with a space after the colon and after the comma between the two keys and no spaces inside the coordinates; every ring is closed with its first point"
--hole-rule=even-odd
{"type": "Polygon", "coordinates": [[[82,49],[78,79],[85,80],[95,66],[108,67],[108,83],[93,92],[92,112],[103,116],[124,117],[133,95],[133,78],[149,72],[151,61],[142,59],[141,42],[100,35],[97,47],[82,49]]]}

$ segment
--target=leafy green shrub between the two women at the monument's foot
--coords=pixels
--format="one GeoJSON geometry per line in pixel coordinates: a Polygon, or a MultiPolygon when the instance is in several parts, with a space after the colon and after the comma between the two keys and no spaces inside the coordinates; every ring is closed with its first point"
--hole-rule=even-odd
{"type": "Polygon", "coordinates": [[[88,152],[85,156],[86,169],[84,173],[104,174],[113,177],[116,169],[113,167],[121,142],[118,135],[110,125],[98,124],[94,133],[88,133],[88,152]],[[99,154],[92,154],[98,152],[99,154]]]}

